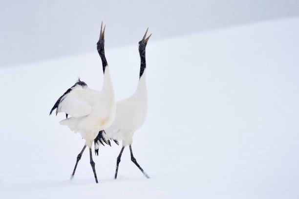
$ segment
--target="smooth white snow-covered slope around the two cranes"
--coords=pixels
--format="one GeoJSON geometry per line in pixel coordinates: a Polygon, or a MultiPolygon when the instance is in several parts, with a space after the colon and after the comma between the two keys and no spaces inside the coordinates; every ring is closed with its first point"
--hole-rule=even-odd
{"type": "MultiPolygon", "coordinates": [[[[96,49],[1,68],[0,198],[298,199],[298,37],[289,18],[149,40],[149,114],[132,149],[150,179],[125,148],[114,180],[112,143],[94,156],[99,184],[86,151],[69,180],[84,140],[48,115],[79,76],[101,89],[96,49]]],[[[137,42],[106,56],[117,100],[130,96],[137,42]]]]}

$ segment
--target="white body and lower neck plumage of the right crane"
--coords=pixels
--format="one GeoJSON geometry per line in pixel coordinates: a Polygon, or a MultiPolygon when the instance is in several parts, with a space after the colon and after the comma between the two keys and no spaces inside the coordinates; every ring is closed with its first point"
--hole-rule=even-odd
{"type": "MultiPolygon", "coordinates": [[[[122,140],[123,146],[130,145],[135,131],[145,122],[147,112],[148,94],[145,70],[138,82],[135,93],[131,97],[116,103],[115,119],[111,126],[105,129],[104,138],[122,140]]],[[[96,148],[98,147],[97,145],[96,148]]]]}

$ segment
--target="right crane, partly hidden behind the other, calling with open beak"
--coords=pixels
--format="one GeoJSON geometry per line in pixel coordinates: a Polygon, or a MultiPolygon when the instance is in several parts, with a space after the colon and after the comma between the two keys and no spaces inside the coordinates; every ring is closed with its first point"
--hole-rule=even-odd
{"type": "MultiPolygon", "coordinates": [[[[148,28],[149,29],[149,28],[148,28]]],[[[148,93],[146,86],[146,46],[149,37],[146,39],[148,29],[141,41],[139,41],[139,55],[140,55],[140,73],[139,82],[135,93],[124,100],[116,103],[116,115],[113,123],[107,129],[100,131],[97,138],[94,140],[95,153],[98,155],[100,144],[105,141],[110,145],[109,139],[113,139],[117,144],[118,140],[122,140],[123,147],[116,161],[116,171],[114,178],[117,178],[118,165],[121,160],[124,148],[129,145],[131,160],[142,171],[145,177],[149,176],[137,163],[133,156],[131,144],[133,142],[133,135],[137,129],[139,129],[146,120],[148,110],[148,93]],[[103,133],[104,132],[104,133],[103,133]],[[106,141],[108,140],[108,142],[106,141]]],[[[103,144],[104,145],[104,144],[103,144]]]]}

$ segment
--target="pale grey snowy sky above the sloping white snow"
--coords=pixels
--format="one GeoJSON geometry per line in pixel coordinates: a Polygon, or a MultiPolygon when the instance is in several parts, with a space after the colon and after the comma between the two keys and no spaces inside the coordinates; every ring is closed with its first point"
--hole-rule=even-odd
{"type": "MultiPolygon", "coordinates": [[[[298,0],[1,0],[0,67],[257,20],[299,15],[298,0]]],[[[136,44],[137,45],[137,44],[136,44]]]]}

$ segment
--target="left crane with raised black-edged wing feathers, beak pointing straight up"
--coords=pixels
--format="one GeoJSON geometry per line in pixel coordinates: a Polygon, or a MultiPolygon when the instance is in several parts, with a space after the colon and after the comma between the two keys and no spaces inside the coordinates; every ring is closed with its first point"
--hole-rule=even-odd
{"type": "Polygon", "coordinates": [[[75,171],[79,160],[85,150],[89,147],[90,164],[93,170],[94,178],[98,183],[95,163],[92,159],[91,146],[92,141],[97,137],[99,131],[108,128],[115,118],[115,97],[110,78],[110,72],[105,58],[104,50],[104,31],[102,32],[103,22],[101,25],[100,39],[97,42],[97,50],[102,59],[104,83],[101,91],[93,90],[87,87],[86,83],[78,80],[75,85],[69,88],[63,96],[61,96],[53,106],[52,111],[56,109],[56,115],[59,112],[66,114],[66,119],[60,121],[60,124],[68,126],[75,133],[79,132],[85,145],[77,157],[76,165],[72,173],[71,179],[75,175],[75,171]],[[67,116],[70,115],[70,118],[67,116]]]}

